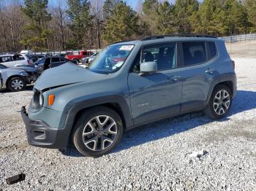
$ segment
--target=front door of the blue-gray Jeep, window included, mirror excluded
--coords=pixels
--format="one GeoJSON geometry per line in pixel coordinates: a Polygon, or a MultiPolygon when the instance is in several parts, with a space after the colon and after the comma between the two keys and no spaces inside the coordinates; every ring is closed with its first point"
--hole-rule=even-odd
{"type": "Polygon", "coordinates": [[[128,86],[135,125],[170,117],[180,112],[181,69],[177,69],[177,44],[143,47],[129,73],[128,86]],[[157,72],[140,75],[140,63],[154,61],[157,72]]]}

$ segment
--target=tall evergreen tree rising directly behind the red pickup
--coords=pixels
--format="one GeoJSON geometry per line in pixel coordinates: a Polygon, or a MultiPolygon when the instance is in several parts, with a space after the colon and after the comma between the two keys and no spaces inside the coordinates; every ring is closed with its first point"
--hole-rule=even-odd
{"type": "Polygon", "coordinates": [[[69,27],[73,31],[74,38],[67,42],[67,47],[81,49],[89,48],[88,29],[91,26],[90,2],[87,0],[68,0],[67,15],[69,16],[69,27]]]}

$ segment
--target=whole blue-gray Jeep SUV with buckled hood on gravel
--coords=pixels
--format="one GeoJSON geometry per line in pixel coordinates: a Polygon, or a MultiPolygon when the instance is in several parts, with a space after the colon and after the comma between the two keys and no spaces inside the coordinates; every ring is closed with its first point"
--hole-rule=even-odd
{"type": "Polygon", "coordinates": [[[89,68],[45,71],[22,108],[29,144],[104,155],[124,130],[204,110],[219,119],[236,95],[234,63],[214,36],[150,36],[105,48],[89,68]]]}

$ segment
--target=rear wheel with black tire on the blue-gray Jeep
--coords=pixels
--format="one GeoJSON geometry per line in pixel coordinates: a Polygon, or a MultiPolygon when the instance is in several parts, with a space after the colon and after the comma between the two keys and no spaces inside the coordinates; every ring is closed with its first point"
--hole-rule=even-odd
{"type": "Polygon", "coordinates": [[[231,105],[232,93],[230,88],[225,85],[217,85],[204,112],[211,119],[218,120],[228,114],[231,105]]]}

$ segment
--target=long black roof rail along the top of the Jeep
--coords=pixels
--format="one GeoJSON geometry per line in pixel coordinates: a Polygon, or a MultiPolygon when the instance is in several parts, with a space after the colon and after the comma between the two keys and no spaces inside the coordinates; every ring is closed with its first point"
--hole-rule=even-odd
{"type": "Polygon", "coordinates": [[[166,35],[147,36],[147,37],[144,37],[143,39],[140,39],[140,41],[164,39],[165,37],[204,37],[204,38],[217,39],[217,36],[206,35],[206,34],[166,34],[166,35]]]}

